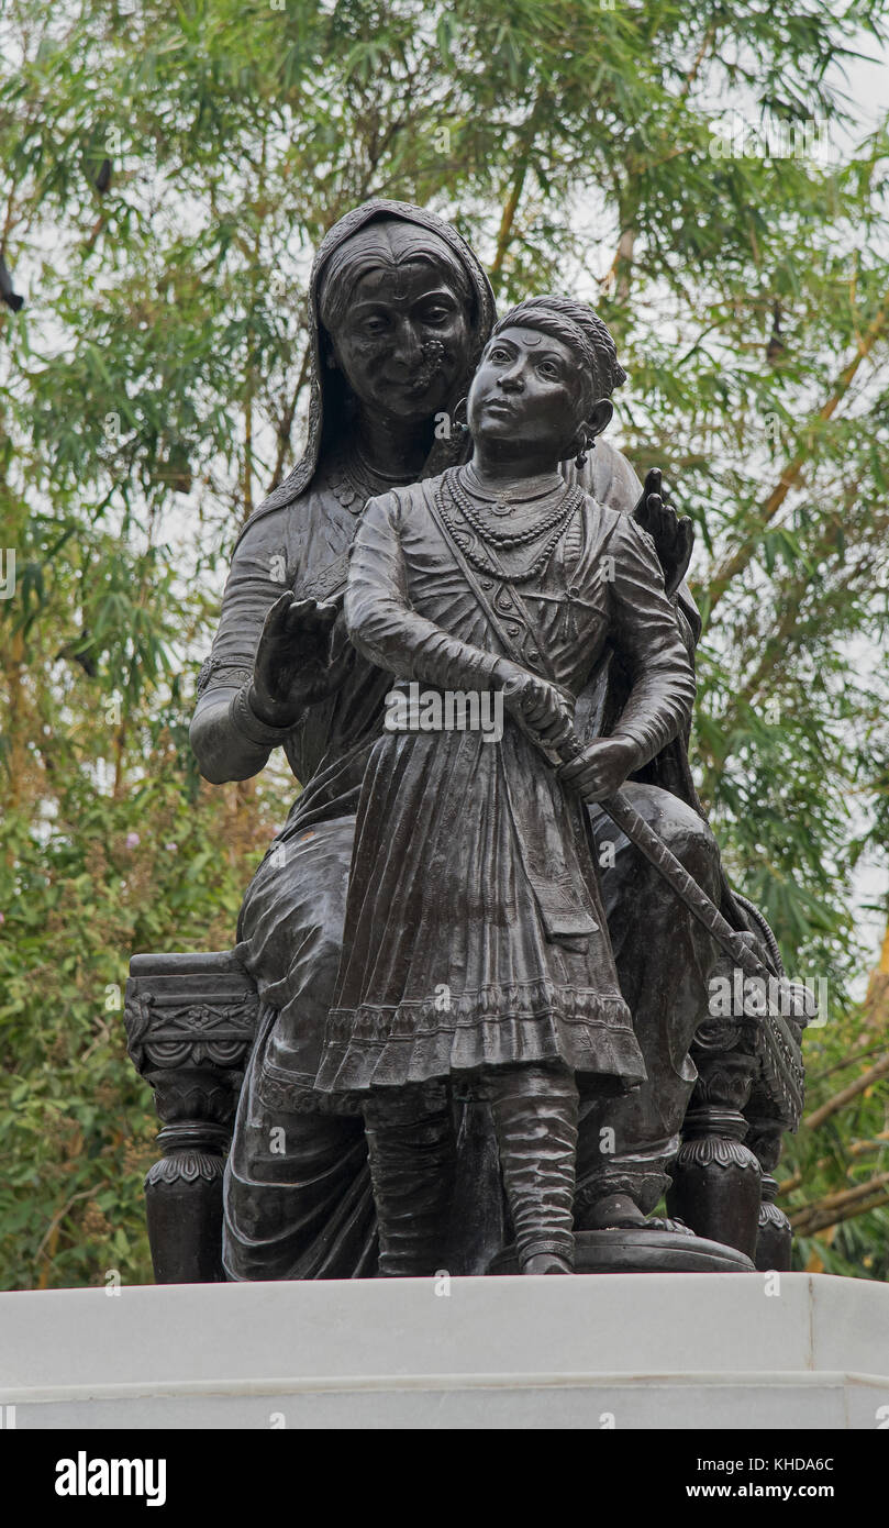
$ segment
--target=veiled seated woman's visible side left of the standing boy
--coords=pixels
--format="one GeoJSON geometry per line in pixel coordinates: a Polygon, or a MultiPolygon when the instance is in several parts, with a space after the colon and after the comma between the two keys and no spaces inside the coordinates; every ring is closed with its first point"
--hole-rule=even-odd
{"type": "Polygon", "coordinates": [[[247,779],[281,747],[302,785],[238,920],[237,953],[263,1013],[225,1183],[231,1279],[376,1267],[364,1123],[319,1114],[312,1083],[360,781],[390,680],[356,657],[328,601],[342,596],[367,498],[460,458],[448,422],[489,338],[493,296],[454,229],[379,200],[327,234],[309,322],[305,451],[238,538],[191,726],[208,779],[247,779]]]}

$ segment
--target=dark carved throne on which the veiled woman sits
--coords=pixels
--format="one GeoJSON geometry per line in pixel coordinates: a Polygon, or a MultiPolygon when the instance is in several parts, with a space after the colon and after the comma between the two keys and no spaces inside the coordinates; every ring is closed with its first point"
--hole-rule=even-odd
{"type": "MultiPolygon", "coordinates": [[[[154,1089],[162,1122],[163,1155],[145,1178],[157,1284],[225,1279],[225,1160],[258,1016],[257,987],[229,950],[130,961],[128,1050],[154,1089]]],[[[805,1019],[791,1018],[782,1030],[785,1038],[790,1031],[794,1051],[784,1068],[776,1047],[765,1044],[767,1024],[767,1018],[710,1019],[698,1030],[692,1050],[698,1083],[671,1169],[668,1209],[698,1236],[736,1248],[756,1268],[787,1270],[791,1229],[774,1204],[771,1170],[784,1131],[799,1123],[791,1076],[800,1071],[805,1019]]],[[[668,1262],[664,1271],[672,1267],[668,1262]]]]}

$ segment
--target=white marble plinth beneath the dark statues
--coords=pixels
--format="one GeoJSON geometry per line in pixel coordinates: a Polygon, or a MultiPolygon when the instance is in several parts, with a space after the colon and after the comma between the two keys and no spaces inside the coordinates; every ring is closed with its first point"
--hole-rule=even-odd
{"type": "Polygon", "coordinates": [[[889,1426],[889,1285],[608,1274],[0,1294],[34,1427],[889,1426]]]}

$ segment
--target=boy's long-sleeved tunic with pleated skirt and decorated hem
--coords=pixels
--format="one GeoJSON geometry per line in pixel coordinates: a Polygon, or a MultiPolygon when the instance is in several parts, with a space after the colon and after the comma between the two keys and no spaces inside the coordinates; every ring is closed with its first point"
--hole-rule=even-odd
{"type": "MultiPolygon", "coordinates": [[[[496,691],[507,654],[435,523],[440,489],[434,478],[368,501],[348,626],[399,681],[496,691]]],[[[487,599],[522,662],[542,674],[542,649],[571,700],[608,645],[620,649],[632,691],[617,732],[654,758],[686,724],[695,681],[634,521],[584,495],[544,571],[516,588],[530,626],[509,584],[489,581],[487,599]]],[[[501,743],[386,733],[362,787],[316,1086],[360,1093],[541,1062],[599,1094],[645,1077],[587,810],[509,715],[501,743]]]]}

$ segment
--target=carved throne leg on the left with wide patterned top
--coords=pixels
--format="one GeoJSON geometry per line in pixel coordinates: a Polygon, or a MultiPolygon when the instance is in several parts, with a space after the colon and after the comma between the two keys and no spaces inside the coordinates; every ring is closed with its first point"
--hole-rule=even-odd
{"type": "Polygon", "coordinates": [[[163,1122],[145,1178],[157,1284],[223,1279],[221,1180],[257,1018],[255,984],[228,950],[130,963],[130,1056],[163,1122]]]}

